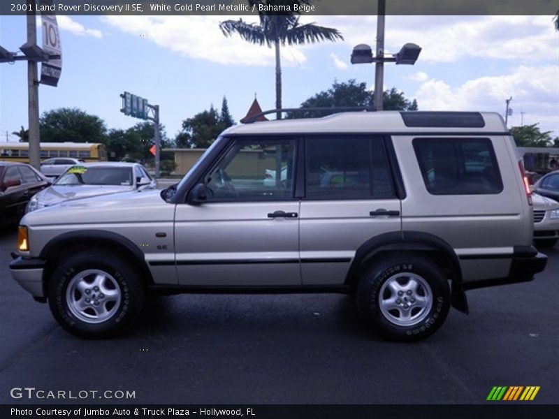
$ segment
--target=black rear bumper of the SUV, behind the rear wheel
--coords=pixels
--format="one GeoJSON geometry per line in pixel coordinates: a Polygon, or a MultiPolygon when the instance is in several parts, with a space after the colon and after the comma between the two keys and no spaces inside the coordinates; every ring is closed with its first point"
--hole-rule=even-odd
{"type": "Polygon", "coordinates": [[[545,269],[546,264],[547,256],[544,255],[544,253],[539,253],[535,247],[515,246],[509,275],[507,277],[465,282],[462,284],[462,287],[464,291],[467,291],[488,286],[529,282],[534,279],[535,274],[545,269]]]}

